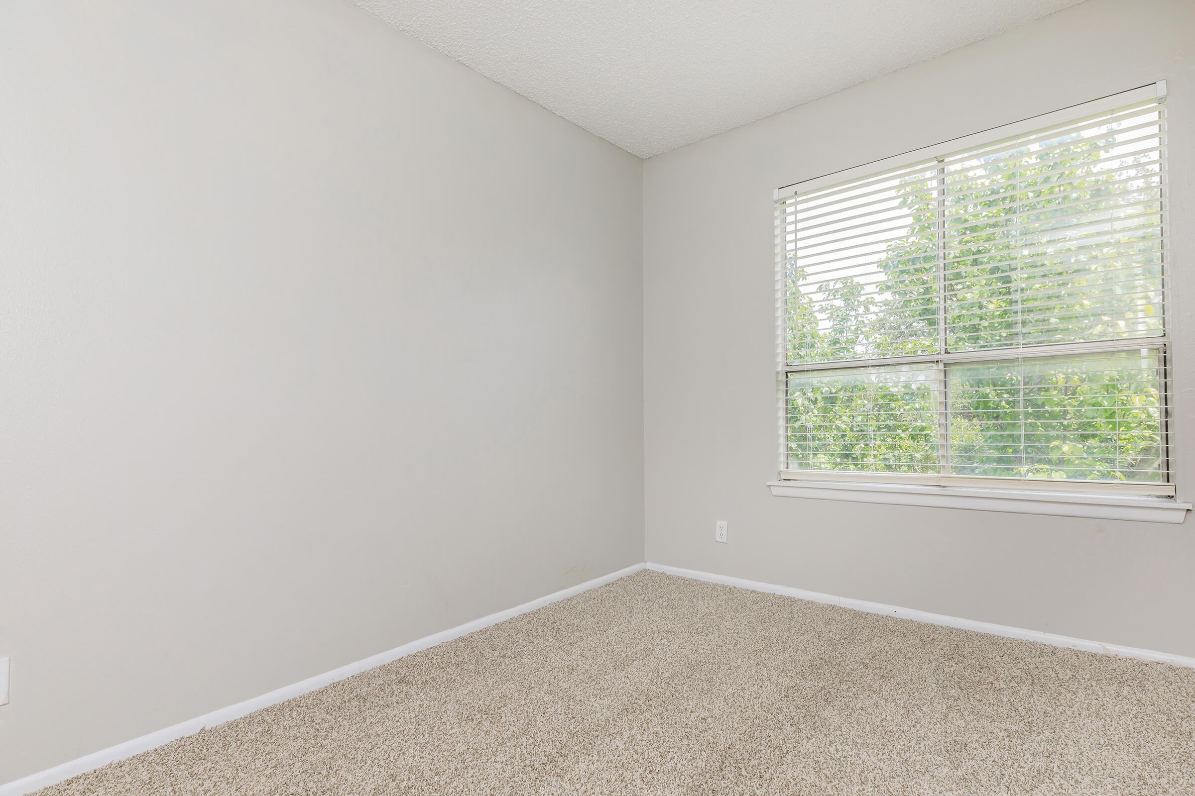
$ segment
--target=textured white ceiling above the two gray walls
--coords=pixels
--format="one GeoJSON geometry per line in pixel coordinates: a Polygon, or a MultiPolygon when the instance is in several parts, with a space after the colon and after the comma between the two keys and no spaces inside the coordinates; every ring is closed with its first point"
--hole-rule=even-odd
{"type": "Polygon", "coordinates": [[[353,2],[650,158],[1081,0],[353,2]]]}

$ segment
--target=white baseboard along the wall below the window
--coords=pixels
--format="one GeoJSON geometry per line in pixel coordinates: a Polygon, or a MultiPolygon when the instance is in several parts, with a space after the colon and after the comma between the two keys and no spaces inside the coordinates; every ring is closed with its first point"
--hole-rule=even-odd
{"type": "Polygon", "coordinates": [[[993,636],[1005,636],[1007,638],[1022,638],[1024,641],[1037,641],[1043,644],[1052,644],[1054,647],[1066,647],[1068,649],[1083,649],[1090,653],[1102,653],[1105,655],[1123,655],[1126,658],[1139,658],[1147,661],[1160,661],[1164,664],[1173,664],[1176,666],[1190,666],[1195,668],[1195,658],[1187,658],[1185,655],[1172,655],[1170,653],[1158,653],[1152,649],[1138,649],[1136,647],[1123,647],[1121,644],[1104,644],[1098,641],[1087,641],[1085,638],[1072,638],[1070,636],[1060,636],[1055,633],[1044,633],[1042,630],[1025,630],[1023,628],[1010,628],[1004,624],[993,624],[991,622],[976,622],[975,619],[961,619],[956,616],[945,616],[942,613],[930,613],[929,611],[918,611],[915,609],[903,609],[897,605],[884,605],[883,603],[870,603],[868,600],[856,600],[848,597],[834,597],[833,594],[822,594],[821,592],[807,592],[803,588],[792,588],[791,586],[776,586],[773,584],[762,584],[758,580],[743,580],[742,578],[730,578],[729,575],[715,575],[709,572],[698,572],[695,569],[681,569],[680,567],[667,567],[660,563],[646,564],[648,569],[655,572],[662,572],[669,575],[680,575],[681,578],[693,578],[695,580],[704,580],[711,584],[723,584],[725,586],[739,586],[740,588],[749,588],[754,592],[768,592],[771,594],[784,594],[785,597],[796,597],[802,600],[811,600],[814,603],[827,603],[829,605],[840,605],[847,609],[854,609],[857,611],[866,611],[868,613],[885,613],[888,616],[900,617],[902,619],[913,619],[914,622],[925,622],[927,624],[942,624],[948,628],[962,628],[963,630],[976,630],[979,633],[987,633],[993,636]]]}

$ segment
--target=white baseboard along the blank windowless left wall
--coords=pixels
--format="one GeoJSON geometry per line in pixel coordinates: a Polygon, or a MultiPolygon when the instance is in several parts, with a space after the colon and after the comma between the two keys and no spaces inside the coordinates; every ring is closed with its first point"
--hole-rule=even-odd
{"type": "Polygon", "coordinates": [[[166,729],[159,729],[157,733],[149,733],[148,735],[135,738],[131,741],[117,743],[116,746],[111,746],[106,749],[100,749],[99,752],[93,752],[75,760],[63,763],[54,766],[53,769],[47,769],[45,771],[39,771],[37,773],[29,775],[27,777],[14,779],[8,784],[0,785],[0,796],[23,796],[24,794],[48,788],[49,785],[62,782],[63,779],[69,779],[71,777],[93,771],[94,769],[108,765],[109,763],[123,760],[124,758],[146,752],[161,746],[163,743],[168,743],[170,741],[183,738],[184,735],[191,735],[200,732],[204,727],[214,727],[216,724],[232,721],[233,718],[240,718],[241,716],[251,714],[255,710],[269,708],[270,705],[280,702],[302,696],[308,691],[314,691],[315,689],[324,687],[330,683],[336,683],[337,680],[343,680],[347,677],[351,677],[366,669],[388,664],[393,660],[398,660],[399,658],[410,655],[411,653],[417,653],[421,649],[442,644],[446,641],[459,638],[473,633],[474,630],[480,630],[482,628],[488,628],[491,624],[497,624],[498,622],[516,617],[520,613],[527,613],[528,611],[544,607],[549,603],[556,603],[557,600],[563,600],[590,588],[605,586],[611,581],[618,580],[619,578],[639,572],[643,567],[644,564],[642,563],[632,564],[625,569],[612,572],[608,575],[602,575],[601,578],[594,578],[593,580],[571,586],[553,594],[549,594],[547,597],[540,597],[531,603],[523,603],[522,605],[516,605],[513,609],[507,609],[505,611],[498,611],[497,613],[491,613],[490,616],[482,617],[480,619],[466,622],[465,624],[452,628],[451,630],[442,630],[440,633],[431,634],[430,636],[424,636],[423,638],[403,644],[402,647],[396,647],[394,649],[385,653],[372,655],[356,661],[355,664],[349,664],[348,666],[342,666],[332,669],[331,672],[324,672],[323,674],[310,677],[306,680],[281,687],[276,691],[270,691],[269,693],[263,693],[259,697],[253,697],[252,699],[246,699],[245,702],[240,702],[227,708],[221,708],[220,710],[214,710],[203,716],[198,716],[197,718],[184,721],[180,724],[174,724],[173,727],[167,727],[166,729]]]}

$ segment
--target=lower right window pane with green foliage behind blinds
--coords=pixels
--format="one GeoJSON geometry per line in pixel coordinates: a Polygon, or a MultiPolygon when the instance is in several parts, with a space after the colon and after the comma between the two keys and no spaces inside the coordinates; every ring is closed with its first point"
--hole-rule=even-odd
{"type": "Polygon", "coordinates": [[[950,365],[950,471],[1165,481],[1157,348],[950,365]]]}

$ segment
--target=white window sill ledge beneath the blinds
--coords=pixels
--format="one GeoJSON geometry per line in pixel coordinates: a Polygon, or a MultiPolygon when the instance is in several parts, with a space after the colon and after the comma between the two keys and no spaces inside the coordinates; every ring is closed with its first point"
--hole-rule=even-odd
{"type": "Polygon", "coordinates": [[[1170,498],[1099,495],[1030,489],[980,489],[906,483],[859,483],[851,481],[770,481],[772,494],[780,498],[846,500],[850,502],[939,506],[974,511],[1003,511],[1015,514],[1128,519],[1141,523],[1182,523],[1191,505],[1170,498]]]}

